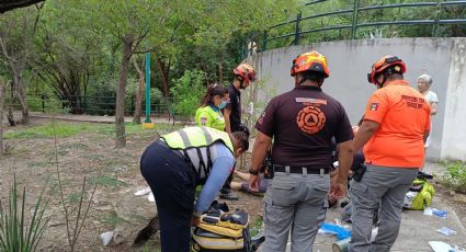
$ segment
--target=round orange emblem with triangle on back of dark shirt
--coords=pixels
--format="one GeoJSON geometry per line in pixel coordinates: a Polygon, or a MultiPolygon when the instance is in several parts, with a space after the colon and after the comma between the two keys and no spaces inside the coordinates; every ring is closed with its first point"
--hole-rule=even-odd
{"type": "Polygon", "coordinates": [[[305,106],[296,116],[296,124],[306,134],[314,135],[320,131],[326,125],[327,117],[323,112],[316,106],[305,106]]]}

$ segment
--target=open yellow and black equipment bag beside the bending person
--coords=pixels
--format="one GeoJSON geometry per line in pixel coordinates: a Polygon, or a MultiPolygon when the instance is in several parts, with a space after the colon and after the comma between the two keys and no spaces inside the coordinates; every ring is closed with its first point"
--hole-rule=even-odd
{"type": "Polygon", "coordinates": [[[192,252],[249,252],[249,215],[245,210],[207,213],[193,231],[192,252]]]}

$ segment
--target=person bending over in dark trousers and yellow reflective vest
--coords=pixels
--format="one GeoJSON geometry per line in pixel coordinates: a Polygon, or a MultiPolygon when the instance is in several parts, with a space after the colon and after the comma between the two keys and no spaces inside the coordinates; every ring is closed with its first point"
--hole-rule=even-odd
{"type": "Polygon", "coordinates": [[[140,158],[140,172],[152,190],[163,252],[190,251],[190,226],[214,201],[236,158],[249,148],[245,133],[186,127],[161,136],[140,158]],[[196,185],[204,184],[194,206],[196,185]]]}

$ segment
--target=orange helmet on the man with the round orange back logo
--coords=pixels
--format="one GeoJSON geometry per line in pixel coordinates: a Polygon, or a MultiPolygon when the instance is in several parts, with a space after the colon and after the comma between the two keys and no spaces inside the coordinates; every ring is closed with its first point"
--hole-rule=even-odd
{"type": "Polygon", "coordinates": [[[326,56],[319,54],[316,50],[305,53],[293,59],[292,76],[296,76],[298,72],[314,71],[320,72],[326,78],[329,77],[329,67],[327,66],[326,56]]]}

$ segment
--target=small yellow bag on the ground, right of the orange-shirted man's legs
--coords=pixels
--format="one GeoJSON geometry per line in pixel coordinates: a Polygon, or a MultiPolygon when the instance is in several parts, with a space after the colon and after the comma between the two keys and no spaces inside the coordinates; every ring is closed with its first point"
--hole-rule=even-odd
{"type": "Polygon", "coordinates": [[[423,210],[432,204],[435,188],[425,179],[418,176],[405,195],[402,207],[411,210],[423,210]]]}

